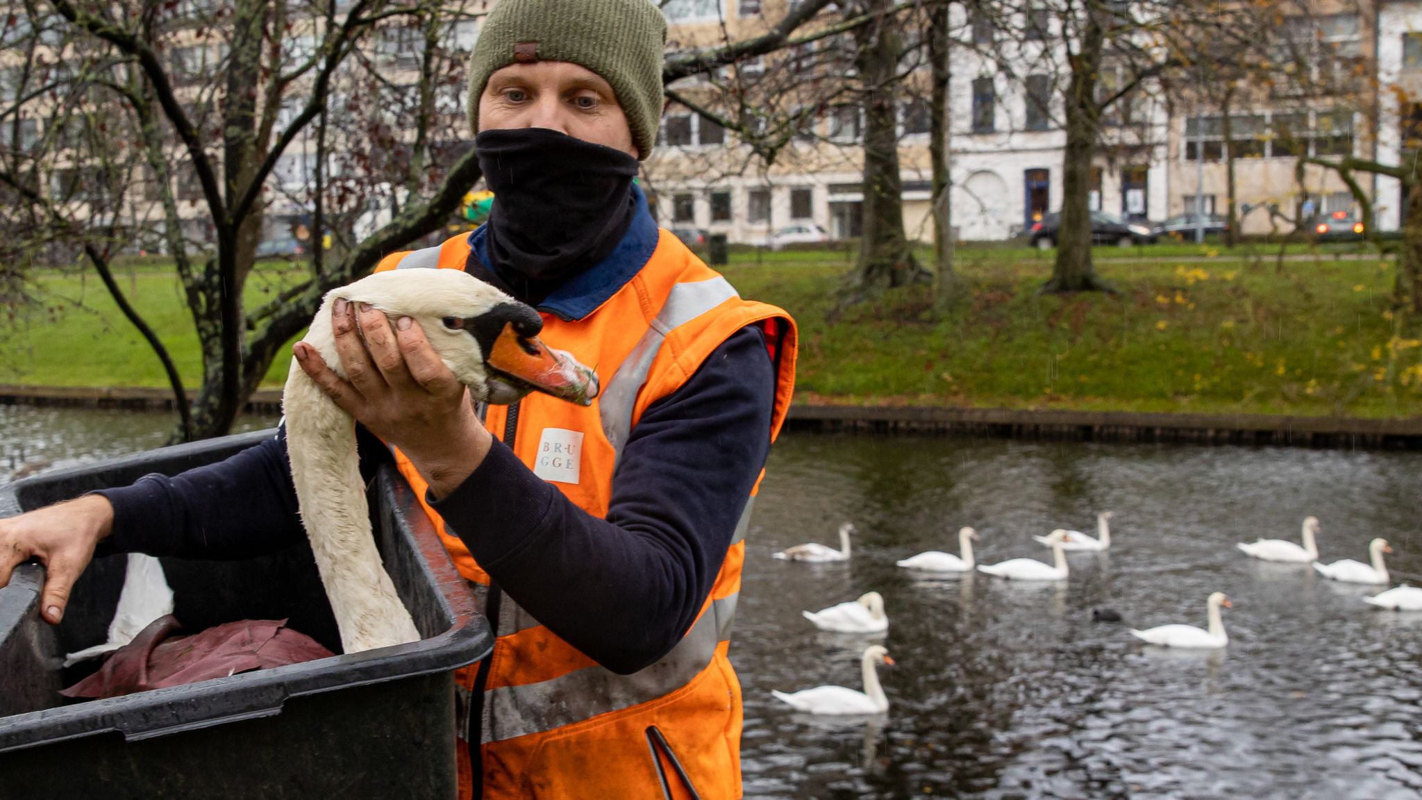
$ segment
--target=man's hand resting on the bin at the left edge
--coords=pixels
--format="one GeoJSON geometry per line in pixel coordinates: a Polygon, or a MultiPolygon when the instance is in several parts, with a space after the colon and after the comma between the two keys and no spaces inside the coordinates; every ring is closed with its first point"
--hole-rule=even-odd
{"type": "Polygon", "coordinates": [[[58,625],[74,581],[112,528],[114,507],[98,494],[0,520],[0,586],[10,584],[16,567],[40,559],[46,567],[40,609],[58,625]]]}

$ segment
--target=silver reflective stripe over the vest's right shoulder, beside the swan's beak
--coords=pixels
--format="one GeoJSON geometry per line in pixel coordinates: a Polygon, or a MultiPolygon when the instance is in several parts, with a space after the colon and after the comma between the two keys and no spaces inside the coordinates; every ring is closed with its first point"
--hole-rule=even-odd
{"type": "Polygon", "coordinates": [[[661,349],[661,342],[667,337],[667,333],[731,298],[739,298],[739,295],[721,276],[694,283],[677,283],[671,288],[671,295],[667,296],[667,302],[661,306],[661,312],[657,313],[657,319],[651,320],[647,333],[641,336],[631,349],[631,353],[627,353],[627,357],[623,359],[621,366],[617,367],[617,373],[603,387],[602,397],[597,400],[599,413],[603,420],[603,433],[607,434],[607,441],[611,443],[617,458],[621,458],[621,448],[627,444],[627,436],[631,433],[631,411],[633,406],[637,404],[637,393],[647,383],[651,362],[656,360],[657,350],[661,349]]]}

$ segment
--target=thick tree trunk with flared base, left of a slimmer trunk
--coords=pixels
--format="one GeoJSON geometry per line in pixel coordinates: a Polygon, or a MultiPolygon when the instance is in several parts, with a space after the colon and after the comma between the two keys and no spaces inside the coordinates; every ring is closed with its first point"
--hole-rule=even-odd
{"type": "MultiPolygon", "coordinates": [[[[889,0],[870,0],[869,13],[883,14],[889,0]]],[[[899,34],[894,20],[879,19],[855,28],[855,65],[865,84],[865,208],[859,263],[848,280],[848,302],[924,276],[903,231],[899,178],[899,122],[894,114],[899,34]]]]}

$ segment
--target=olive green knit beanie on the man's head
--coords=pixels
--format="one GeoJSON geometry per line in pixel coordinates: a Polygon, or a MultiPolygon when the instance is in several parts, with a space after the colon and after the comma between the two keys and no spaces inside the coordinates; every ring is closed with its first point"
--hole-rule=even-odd
{"type": "Polygon", "coordinates": [[[469,127],[479,132],[479,95],[489,75],[515,61],[570,61],[617,94],[631,141],[651,154],[661,120],[667,19],[651,0],[499,0],[469,56],[469,127]]]}

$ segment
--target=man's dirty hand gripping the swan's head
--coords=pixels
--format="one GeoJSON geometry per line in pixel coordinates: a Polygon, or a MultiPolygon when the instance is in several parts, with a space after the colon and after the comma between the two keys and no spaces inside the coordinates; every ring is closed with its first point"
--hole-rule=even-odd
{"type": "Polygon", "coordinates": [[[410,317],[391,326],[384,312],[337,300],[331,332],[348,380],[304,342],[292,349],[301,370],[367,430],[400,447],[437,497],[448,495],[493,444],[468,390],[410,317]]]}

